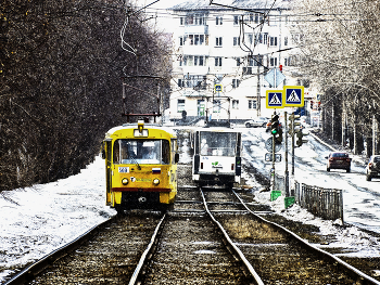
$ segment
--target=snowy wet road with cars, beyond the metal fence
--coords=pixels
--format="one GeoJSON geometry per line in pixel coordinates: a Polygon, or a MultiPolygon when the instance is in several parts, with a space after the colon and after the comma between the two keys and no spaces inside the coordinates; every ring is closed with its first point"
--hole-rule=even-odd
{"type": "MultiPolygon", "coordinates": [[[[265,132],[265,128],[240,130],[243,133],[245,156],[252,159],[252,165],[258,171],[269,177],[271,163],[266,163],[264,157],[267,153],[265,141],[270,134],[265,132]]],[[[345,170],[327,172],[325,157],[331,150],[313,135],[307,135],[307,139],[308,143],[295,148],[294,179],[308,185],[343,190],[344,222],[380,233],[380,179],[366,181],[366,165],[359,157],[353,157],[350,173],[345,170]]],[[[282,161],[276,164],[276,173],[284,176],[284,147],[279,153],[282,161]]],[[[291,151],[288,158],[291,173],[291,151]]]]}

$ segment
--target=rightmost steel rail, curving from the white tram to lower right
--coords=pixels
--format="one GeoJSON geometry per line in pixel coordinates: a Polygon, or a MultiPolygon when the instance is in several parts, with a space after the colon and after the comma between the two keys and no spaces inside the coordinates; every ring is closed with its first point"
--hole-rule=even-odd
{"type": "MultiPolygon", "coordinates": [[[[245,203],[243,202],[243,199],[239,196],[238,193],[236,193],[233,190],[232,190],[232,193],[237,196],[237,198],[240,200],[240,203],[242,204],[242,206],[250,212],[252,213],[253,216],[255,216],[256,218],[261,219],[262,221],[266,222],[266,223],[269,223],[269,224],[273,224],[274,226],[276,228],[279,228],[281,229],[282,231],[284,231],[287,234],[293,236],[294,238],[296,238],[299,242],[301,242],[302,244],[304,244],[305,246],[312,248],[313,250],[317,251],[318,254],[321,254],[321,255],[325,255],[325,256],[328,256],[329,258],[333,259],[333,261],[340,263],[341,265],[345,267],[346,269],[349,269],[350,271],[354,272],[355,274],[359,275],[360,277],[363,277],[365,281],[367,282],[370,282],[369,284],[377,284],[377,285],[380,285],[380,282],[368,276],[366,273],[362,272],[360,270],[354,268],[353,265],[350,265],[349,263],[344,262],[343,260],[341,260],[340,258],[335,257],[334,255],[328,252],[328,251],[325,251],[312,244],[309,244],[308,242],[306,242],[305,239],[301,238],[299,235],[296,235],[295,233],[289,231],[287,228],[278,224],[278,223],[275,223],[275,222],[271,222],[271,221],[268,221],[266,219],[264,219],[263,217],[259,217],[258,215],[256,215],[254,211],[252,211],[246,205],[245,203]]],[[[367,284],[367,283],[364,283],[364,284],[367,284]]]]}

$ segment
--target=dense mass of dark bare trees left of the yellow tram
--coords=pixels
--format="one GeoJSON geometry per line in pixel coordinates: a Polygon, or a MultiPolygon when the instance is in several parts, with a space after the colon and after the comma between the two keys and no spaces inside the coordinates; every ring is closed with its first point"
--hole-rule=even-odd
{"type": "Polygon", "coordinates": [[[137,17],[124,39],[138,56],[122,49],[127,13],[122,0],[1,1],[0,191],[77,173],[124,120],[121,78],[167,76],[167,43],[137,17]]]}

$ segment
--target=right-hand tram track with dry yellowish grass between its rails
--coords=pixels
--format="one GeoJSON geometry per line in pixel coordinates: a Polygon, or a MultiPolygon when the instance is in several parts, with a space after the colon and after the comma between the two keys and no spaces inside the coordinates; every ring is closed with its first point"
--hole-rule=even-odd
{"type": "Polygon", "coordinates": [[[226,229],[264,284],[380,284],[286,228],[251,211],[237,193],[207,192],[205,196],[207,202],[213,202],[212,205],[217,205],[212,206],[217,207],[215,219],[226,229]],[[237,197],[240,205],[236,203],[237,197]],[[230,204],[226,203],[228,199],[230,204]],[[223,206],[216,203],[218,200],[223,206]],[[239,213],[237,208],[241,207],[246,212],[239,213]],[[228,212],[228,209],[233,212],[228,212]]]}

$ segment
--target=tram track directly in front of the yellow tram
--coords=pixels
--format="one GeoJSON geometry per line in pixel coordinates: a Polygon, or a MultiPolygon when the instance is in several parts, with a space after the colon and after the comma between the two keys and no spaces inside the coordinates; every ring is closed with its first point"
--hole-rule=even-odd
{"type": "Polygon", "coordinates": [[[13,284],[126,284],[161,212],[114,217],[15,275],[13,284]]]}

